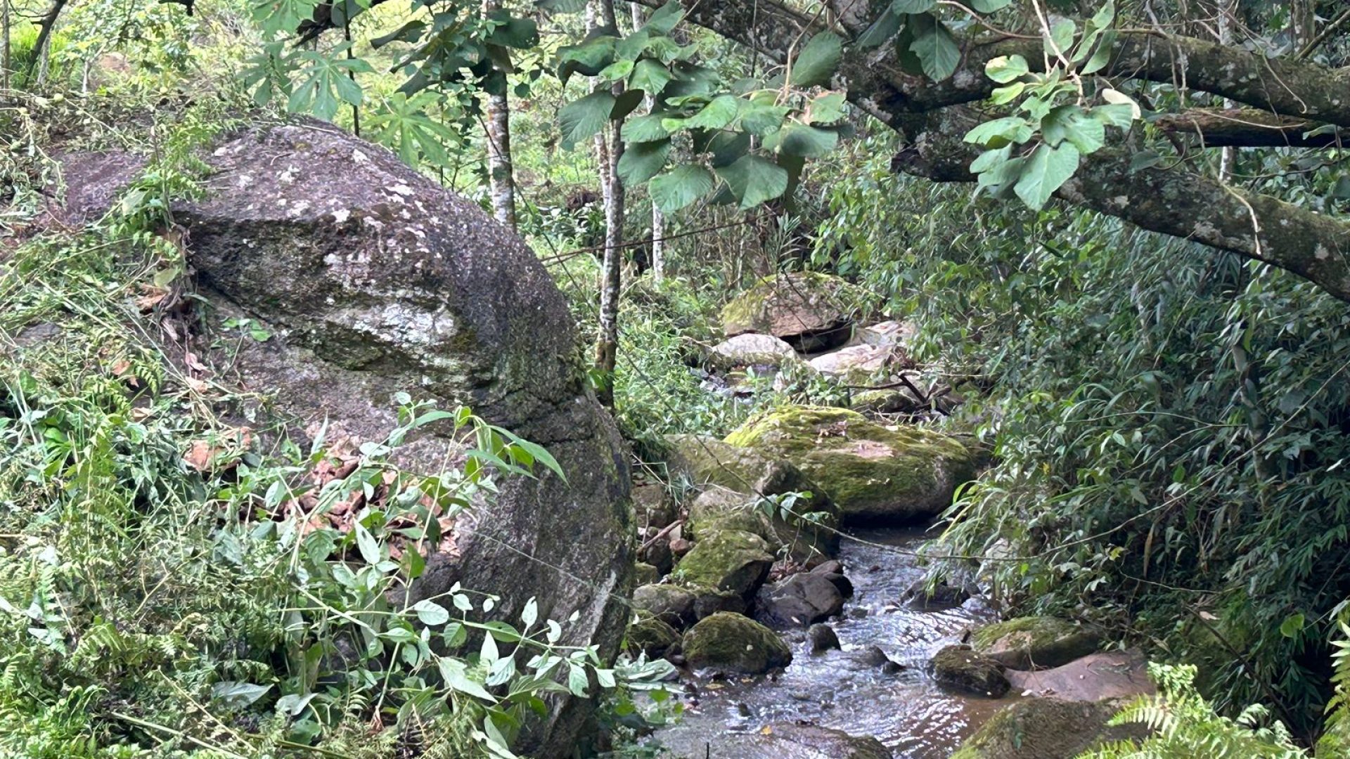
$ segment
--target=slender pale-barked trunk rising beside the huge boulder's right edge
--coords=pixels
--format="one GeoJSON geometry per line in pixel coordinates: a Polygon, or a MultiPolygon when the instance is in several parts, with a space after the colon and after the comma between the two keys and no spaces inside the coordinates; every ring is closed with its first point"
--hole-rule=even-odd
{"type": "MultiPolygon", "coordinates": [[[[614,18],[614,0],[601,0],[601,14],[605,26],[618,28],[614,18]]],[[[614,95],[624,92],[622,82],[614,82],[614,95]]],[[[599,339],[595,342],[595,369],[605,378],[599,400],[605,405],[614,404],[614,363],[618,358],[618,297],[621,263],[624,258],[624,184],[618,178],[618,159],[624,155],[624,140],[620,138],[620,124],[612,123],[608,138],[608,155],[601,165],[605,167],[602,181],[608,188],[605,203],[605,258],[601,265],[599,285],[599,339]]]]}

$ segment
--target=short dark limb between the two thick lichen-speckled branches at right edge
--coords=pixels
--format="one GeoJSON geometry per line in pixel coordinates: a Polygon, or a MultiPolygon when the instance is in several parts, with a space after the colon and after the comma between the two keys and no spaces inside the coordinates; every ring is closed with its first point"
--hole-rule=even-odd
{"type": "Polygon", "coordinates": [[[1165,134],[1193,136],[1203,147],[1343,147],[1350,134],[1307,119],[1276,116],[1254,108],[1195,108],[1158,116],[1153,126],[1165,134]],[[1319,134],[1304,136],[1311,131],[1319,134]]]}

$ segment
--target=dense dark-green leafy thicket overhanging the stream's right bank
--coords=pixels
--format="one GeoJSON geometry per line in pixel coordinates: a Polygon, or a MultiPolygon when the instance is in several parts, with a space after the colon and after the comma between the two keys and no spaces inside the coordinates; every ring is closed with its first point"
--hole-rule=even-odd
{"type": "Polygon", "coordinates": [[[1310,729],[1350,596],[1345,305],[1094,213],[1010,213],[875,162],[832,201],[821,254],[894,293],[925,358],[980,390],[965,413],[998,465],[944,543],[996,556],[1008,600],[1153,636],[1220,702],[1274,693],[1310,729]]]}

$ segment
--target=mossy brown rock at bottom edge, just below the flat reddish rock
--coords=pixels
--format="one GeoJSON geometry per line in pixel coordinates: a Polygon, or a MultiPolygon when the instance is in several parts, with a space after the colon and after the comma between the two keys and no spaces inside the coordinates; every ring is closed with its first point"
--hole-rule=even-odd
{"type": "Polygon", "coordinates": [[[1068,759],[1104,743],[1143,737],[1138,725],[1107,727],[1118,708],[1057,698],[1019,701],[986,723],[952,759],[1068,759]]]}

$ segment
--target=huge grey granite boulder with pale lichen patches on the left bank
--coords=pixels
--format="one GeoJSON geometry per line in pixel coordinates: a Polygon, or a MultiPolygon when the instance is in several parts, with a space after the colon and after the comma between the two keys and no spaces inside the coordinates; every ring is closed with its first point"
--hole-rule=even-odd
{"type": "MultiPolygon", "coordinates": [[[[628,467],[576,366],[567,303],[537,257],[474,203],[331,124],[250,128],[204,159],[207,193],[176,204],[174,220],[209,323],[247,317],[273,335],[221,340],[238,352],[217,363],[266,397],[252,409],[259,419],[302,450],[320,429],[332,444],[359,446],[385,439],[398,424],[396,394],[408,393],[468,405],[563,467],[566,481],[504,478],[490,505],[459,516],[428,547],[410,601],[462,582],[500,596],[494,616],[513,620],[535,597],[541,619],[576,614],[563,644],[616,655],[634,558],[628,467]]],[[[68,166],[78,204],[115,197],[100,182],[127,178],[117,162],[68,166]]],[[[435,474],[459,461],[463,447],[443,424],[410,432],[397,463],[435,474]]],[[[520,750],[570,752],[590,709],[554,698],[520,750]]]]}

